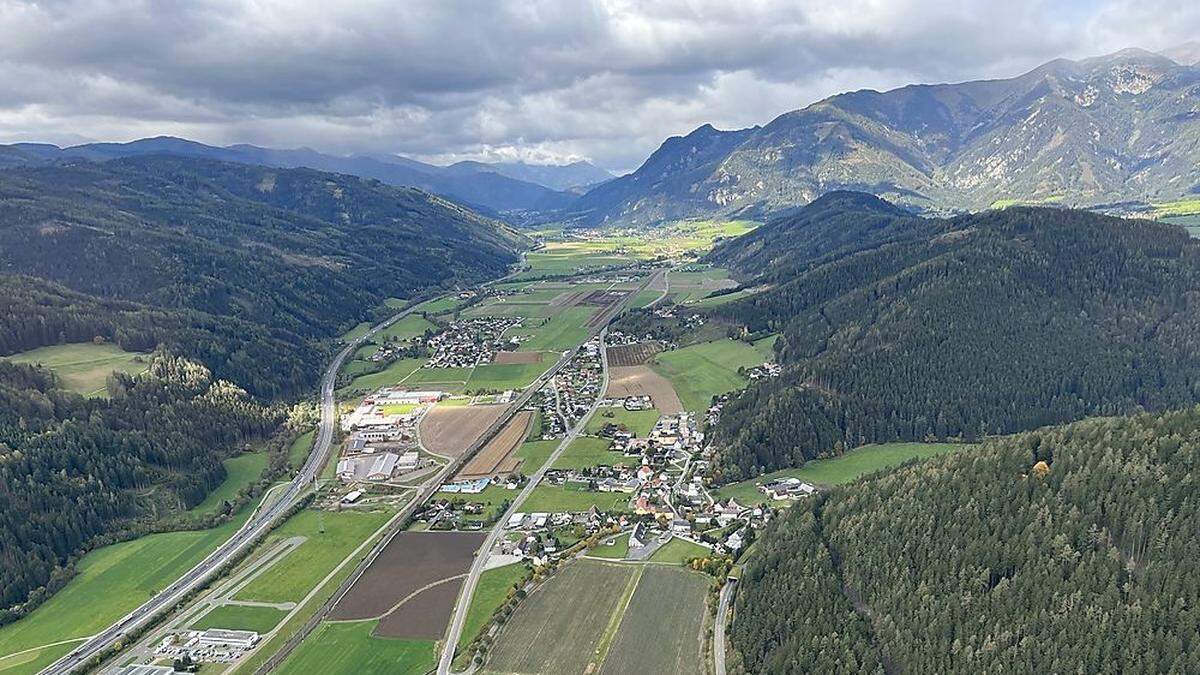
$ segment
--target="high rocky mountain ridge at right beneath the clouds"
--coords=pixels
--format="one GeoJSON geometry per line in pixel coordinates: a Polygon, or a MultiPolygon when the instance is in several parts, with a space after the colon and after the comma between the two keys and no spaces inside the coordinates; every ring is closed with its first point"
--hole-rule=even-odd
{"type": "Polygon", "coordinates": [[[842,189],[934,214],[1196,195],[1200,50],[1170,53],[1178,60],[1058,59],[1008,79],[840,94],[761,127],[704,125],[582,196],[571,217],[766,217],[842,189]]]}

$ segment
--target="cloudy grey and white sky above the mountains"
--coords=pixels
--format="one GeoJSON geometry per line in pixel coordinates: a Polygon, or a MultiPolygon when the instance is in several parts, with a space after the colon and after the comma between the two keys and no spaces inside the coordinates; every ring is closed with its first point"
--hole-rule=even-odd
{"type": "Polygon", "coordinates": [[[1194,0],[0,0],[0,142],[629,171],[704,123],[1198,32],[1194,0]]]}

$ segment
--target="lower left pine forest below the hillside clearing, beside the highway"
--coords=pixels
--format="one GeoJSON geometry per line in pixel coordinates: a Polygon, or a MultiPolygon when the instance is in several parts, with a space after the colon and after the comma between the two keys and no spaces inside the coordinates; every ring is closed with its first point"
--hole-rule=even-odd
{"type": "Polygon", "coordinates": [[[277,408],[163,353],[109,389],[112,400],[85,399],[44,369],[0,360],[0,608],[54,590],[60,568],[114,527],[200,502],[224,478],[221,459],[280,423],[277,408]]]}

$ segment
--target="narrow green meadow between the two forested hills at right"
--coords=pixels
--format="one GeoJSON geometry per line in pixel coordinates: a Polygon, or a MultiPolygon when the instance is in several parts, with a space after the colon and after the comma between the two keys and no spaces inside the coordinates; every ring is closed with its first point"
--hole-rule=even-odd
{"type": "Polygon", "coordinates": [[[756,504],[767,501],[758,491],[758,485],[775,478],[793,477],[815,485],[839,485],[850,483],[860,476],[904,464],[911,459],[926,459],[944,455],[970,447],[965,443],[882,443],[863,446],[850,450],[840,458],[818,459],[806,462],[799,468],[785,468],[764,473],[751,480],[733,483],[716,491],[716,498],[733,497],[742,504],[756,504]]]}

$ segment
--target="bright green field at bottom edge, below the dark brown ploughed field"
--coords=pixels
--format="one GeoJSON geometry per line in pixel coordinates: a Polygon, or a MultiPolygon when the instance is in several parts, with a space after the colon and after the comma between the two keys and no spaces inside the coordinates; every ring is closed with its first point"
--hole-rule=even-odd
{"type": "Polygon", "coordinates": [[[371,634],[378,621],[322,623],[283,662],[278,673],[308,675],[420,675],[437,664],[433,640],[371,634]]]}

